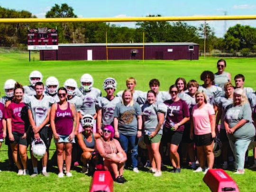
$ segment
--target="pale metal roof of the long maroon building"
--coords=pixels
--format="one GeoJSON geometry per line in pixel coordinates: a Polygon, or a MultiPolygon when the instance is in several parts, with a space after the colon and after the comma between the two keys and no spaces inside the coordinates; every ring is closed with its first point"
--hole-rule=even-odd
{"type": "MultiPolygon", "coordinates": [[[[144,46],[199,45],[194,42],[146,42],[144,46]]],[[[59,43],[61,47],[106,46],[106,43],[59,43]]],[[[143,46],[143,43],[108,43],[108,46],[143,46]]]]}

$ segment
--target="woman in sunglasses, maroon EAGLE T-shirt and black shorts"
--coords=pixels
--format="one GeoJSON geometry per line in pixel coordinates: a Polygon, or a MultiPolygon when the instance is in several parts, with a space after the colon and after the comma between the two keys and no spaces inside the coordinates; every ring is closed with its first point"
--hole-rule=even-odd
{"type": "Polygon", "coordinates": [[[178,87],[172,85],[169,89],[171,100],[165,100],[167,115],[163,129],[163,141],[170,143],[170,158],[174,173],[180,173],[180,156],[177,152],[184,131],[184,124],[189,120],[189,108],[184,100],[178,97],[178,87]]]}

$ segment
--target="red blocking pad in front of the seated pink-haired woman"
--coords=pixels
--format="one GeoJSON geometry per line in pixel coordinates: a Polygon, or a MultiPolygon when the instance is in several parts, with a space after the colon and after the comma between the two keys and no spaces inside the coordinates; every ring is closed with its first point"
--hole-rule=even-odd
{"type": "Polygon", "coordinates": [[[95,171],[90,192],[113,192],[113,179],[109,171],[95,171]]]}

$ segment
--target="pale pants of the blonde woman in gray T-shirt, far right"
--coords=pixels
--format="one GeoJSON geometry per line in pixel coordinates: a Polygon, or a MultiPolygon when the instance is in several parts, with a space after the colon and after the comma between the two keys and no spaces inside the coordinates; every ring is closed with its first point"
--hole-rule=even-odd
{"type": "Polygon", "coordinates": [[[236,169],[244,169],[245,154],[250,142],[252,142],[253,140],[254,137],[235,140],[229,139],[230,148],[233,151],[236,159],[236,169]]]}

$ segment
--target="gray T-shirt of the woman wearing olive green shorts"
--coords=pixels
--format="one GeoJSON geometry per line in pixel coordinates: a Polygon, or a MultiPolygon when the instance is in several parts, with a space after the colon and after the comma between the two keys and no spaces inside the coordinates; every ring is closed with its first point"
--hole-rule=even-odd
{"type": "MultiPolygon", "coordinates": [[[[157,114],[164,113],[166,115],[167,106],[164,103],[149,104],[146,102],[142,106],[141,110],[142,110],[142,115],[144,119],[144,122],[143,122],[144,132],[145,131],[153,132],[155,131],[155,128],[158,124],[157,114]]],[[[163,134],[163,125],[157,134],[163,134]]]]}

